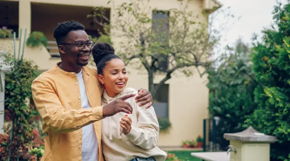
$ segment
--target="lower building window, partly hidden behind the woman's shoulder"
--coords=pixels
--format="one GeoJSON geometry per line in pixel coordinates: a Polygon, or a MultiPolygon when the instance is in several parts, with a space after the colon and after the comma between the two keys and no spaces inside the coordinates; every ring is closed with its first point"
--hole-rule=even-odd
{"type": "Polygon", "coordinates": [[[159,117],[168,118],[168,93],[168,84],[163,84],[156,92],[155,100],[153,101],[153,107],[156,115],[159,117]]]}

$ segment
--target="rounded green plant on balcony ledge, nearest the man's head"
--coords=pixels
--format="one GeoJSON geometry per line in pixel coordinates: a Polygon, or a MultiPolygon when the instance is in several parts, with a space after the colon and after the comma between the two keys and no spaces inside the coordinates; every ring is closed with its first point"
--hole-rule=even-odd
{"type": "Polygon", "coordinates": [[[44,45],[46,47],[47,45],[47,38],[46,36],[43,34],[43,32],[40,31],[33,31],[26,42],[27,46],[30,47],[39,47],[41,44],[44,45]]]}

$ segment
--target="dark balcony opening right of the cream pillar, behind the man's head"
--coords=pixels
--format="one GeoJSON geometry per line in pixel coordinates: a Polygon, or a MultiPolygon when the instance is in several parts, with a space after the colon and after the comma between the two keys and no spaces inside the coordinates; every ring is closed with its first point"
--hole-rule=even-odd
{"type": "MultiPolygon", "coordinates": [[[[93,7],[69,6],[49,3],[31,3],[31,32],[41,31],[48,39],[47,50],[52,58],[59,58],[58,47],[53,37],[53,29],[63,21],[78,21],[85,25],[85,30],[93,37],[99,37],[102,26],[88,19],[93,7]]],[[[108,14],[110,11],[108,10],[108,14]]]]}

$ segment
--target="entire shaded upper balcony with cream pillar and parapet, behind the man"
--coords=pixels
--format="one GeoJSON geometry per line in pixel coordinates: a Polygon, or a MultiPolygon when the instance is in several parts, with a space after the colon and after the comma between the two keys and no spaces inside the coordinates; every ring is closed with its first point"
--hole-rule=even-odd
{"type": "MultiPolygon", "coordinates": [[[[57,2],[56,2],[57,3],[57,2]]],[[[26,38],[33,31],[41,31],[48,39],[46,47],[26,47],[24,57],[32,59],[40,70],[48,70],[61,61],[53,30],[57,23],[63,21],[78,21],[85,25],[85,31],[92,37],[99,37],[103,32],[102,26],[88,19],[87,15],[93,11],[91,6],[64,5],[42,1],[4,1],[0,0],[0,27],[7,26],[16,32],[18,38],[19,28],[27,28],[26,38]]],[[[110,10],[107,10],[110,15],[110,10]]],[[[110,16],[108,16],[110,17],[110,16]]],[[[23,42],[24,32],[22,32],[23,42]]],[[[17,40],[18,41],[18,40],[17,40]]],[[[17,43],[18,45],[18,43],[17,43]]],[[[0,39],[0,46],[7,52],[13,52],[13,39],[0,39]]]]}

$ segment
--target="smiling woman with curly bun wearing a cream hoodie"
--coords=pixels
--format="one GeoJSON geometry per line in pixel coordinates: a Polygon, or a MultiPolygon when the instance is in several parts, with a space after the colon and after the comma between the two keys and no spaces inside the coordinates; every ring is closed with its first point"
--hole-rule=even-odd
{"type": "MultiPolygon", "coordinates": [[[[93,58],[97,66],[98,79],[103,84],[102,105],[116,98],[136,93],[133,88],[125,88],[128,75],[121,58],[107,43],[97,43],[93,47],[93,58]]],[[[166,153],[156,144],[159,124],[151,106],[139,106],[135,98],[126,100],[132,107],[132,114],[120,112],[102,119],[102,146],[106,161],[164,161],[166,153]]]]}

